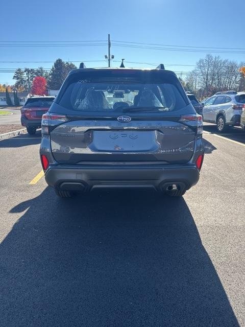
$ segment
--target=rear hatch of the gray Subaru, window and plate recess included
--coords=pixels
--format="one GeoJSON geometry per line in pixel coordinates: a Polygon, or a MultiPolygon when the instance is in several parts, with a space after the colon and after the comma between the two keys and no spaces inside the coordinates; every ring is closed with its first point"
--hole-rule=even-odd
{"type": "Polygon", "coordinates": [[[157,165],[190,160],[197,114],[174,74],[125,70],[83,76],[84,71],[68,78],[45,116],[58,162],[157,165]]]}

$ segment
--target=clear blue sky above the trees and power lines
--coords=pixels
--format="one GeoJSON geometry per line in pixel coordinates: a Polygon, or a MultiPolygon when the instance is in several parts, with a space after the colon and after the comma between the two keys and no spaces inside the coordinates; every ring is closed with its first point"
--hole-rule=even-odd
{"type": "MultiPolygon", "coordinates": [[[[177,65],[194,65],[205,53],[125,48],[114,45],[116,42],[113,40],[245,48],[244,0],[233,0],[229,5],[224,0],[12,0],[4,2],[1,8],[0,41],[106,40],[110,33],[111,53],[115,60],[125,58],[132,62],[171,64],[173,66],[168,68],[178,72],[191,71],[192,66],[177,65]]],[[[106,45],[48,48],[1,46],[0,61],[54,61],[57,58],[65,61],[103,60],[106,53],[106,45]]],[[[224,59],[245,61],[245,53],[219,55],[224,59]]],[[[86,66],[106,64],[87,62],[86,66]]],[[[117,66],[118,63],[113,62],[112,65],[117,66]]],[[[127,65],[149,66],[136,63],[127,65]]],[[[0,62],[0,69],[25,66],[50,68],[52,63],[0,62]]],[[[12,76],[13,73],[0,72],[0,83],[13,84],[12,76]]]]}

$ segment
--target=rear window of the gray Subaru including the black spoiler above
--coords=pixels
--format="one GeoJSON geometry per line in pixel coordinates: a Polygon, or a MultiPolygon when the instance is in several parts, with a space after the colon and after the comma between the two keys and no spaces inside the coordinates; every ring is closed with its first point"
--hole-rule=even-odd
{"type": "Polygon", "coordinates": [[[172,74],[125,70],[72,75],[57,99],[69,110],[120,113],[143,107],[145,112],[155,108],[154,113],[164,113],[188,104],[180,82],[172,74]]]}

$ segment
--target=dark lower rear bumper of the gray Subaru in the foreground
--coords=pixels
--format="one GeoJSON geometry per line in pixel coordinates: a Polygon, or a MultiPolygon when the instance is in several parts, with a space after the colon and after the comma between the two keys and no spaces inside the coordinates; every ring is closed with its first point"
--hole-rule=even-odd
{"type": "Polygon", "coordinates": [[[98,188],[152,188],[165,191],[171,184],[188,190],[199,180],[195,165],[161,167],[112,167],[64,165],[51,166],[45,172],[48,185],[62,191],[92,191],[98,188]]]}

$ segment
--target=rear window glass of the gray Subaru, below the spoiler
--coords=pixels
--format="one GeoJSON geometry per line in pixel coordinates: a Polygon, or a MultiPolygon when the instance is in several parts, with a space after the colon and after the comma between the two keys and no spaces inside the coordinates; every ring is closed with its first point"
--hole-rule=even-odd
{"type": "MultiPolygon", "coordinates": [[[[170,81],[144,83],[129,78],[82,79],[72,82],[59,104],[80,112],[125,112],[135,108],[173,111],[186,106],[178,87],[170,81]]],[[[146,110],[147,111],[147,110],[146,110]]]]}

